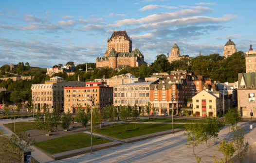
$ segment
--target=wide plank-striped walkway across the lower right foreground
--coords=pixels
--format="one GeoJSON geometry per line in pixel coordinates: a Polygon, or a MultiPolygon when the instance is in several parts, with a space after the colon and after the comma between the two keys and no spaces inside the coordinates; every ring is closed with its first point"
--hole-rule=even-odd
{"type": "MultiPolygon", "coordinates": [[[[256,128],[249,129],[249,122],[239,123],[245,130],[245,138],[250,145],[256,142],[256,128]]],[[[254,124],[254,126],[256,123],[254,124]]],[[[226,127],[219,132],[219,139],[214,143],[213,138],[206,144],[195,148],[197,156],[204,163],[214,163],[212,156],[223,157],[218,144],[223,139],[230,141],[232,133],[226,127]]],[[[252,160],[251,160],[252,161],[252,160]]],[[[183,132],[168,134],[131,144],[123,144],[90,154],[83,154],[72,158],[59,160],[57,163],[197,163],[193,155],[193,147],[187,147],[183,132]]],[[[248,162],[253,163],[253,162],[248,162]]]]}

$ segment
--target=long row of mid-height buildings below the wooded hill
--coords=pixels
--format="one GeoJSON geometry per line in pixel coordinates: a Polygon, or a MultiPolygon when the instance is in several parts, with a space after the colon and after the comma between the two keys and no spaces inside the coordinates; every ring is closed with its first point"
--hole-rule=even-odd
{"type": "Polygon", "coordinates": [[[193,72],[182,70],[167,73],[154,73],[150,78],[135,78],[131,74],[114,76],[111,79],[95,79],[91,82],[69,81],[54,77],[45,84],[32,85],[33,108],[35,111],[43,111],[45,108],[70,110],[76,113],[78,107],[91,107],[91,98],[94,98],[94,107],[116,107],[136,105],[138,109],[145,111],[150,103],[158,115],[193,113],[197,116],[205,116],[204,106],[198,101],[201,93],[212,95],[216,100],[207,107],[208,116],[216,116],[220,110],[232,107],[236,102],[236,89],[226,83],[214,82],[204,76],[194,75],[193,72]],[[224,93],[224,106],[223,106],[224,93]],[[197,99],[193,99],[197,97],[197,99]],[[193,100],[192,100],[193,99],[193,100]],[[211,110],[209,110],[209,109],[211,110]],[[208,113],[213,112],[213,113],[208,113]]]}

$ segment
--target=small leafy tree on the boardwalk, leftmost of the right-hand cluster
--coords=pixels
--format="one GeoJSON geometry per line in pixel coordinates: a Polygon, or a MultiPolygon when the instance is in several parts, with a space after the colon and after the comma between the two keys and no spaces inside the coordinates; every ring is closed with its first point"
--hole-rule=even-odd
{"type": "Polygon", "coordinates": [[[186,145],[188,147],[193,147],[193,153],[195,155],[195,147],[202,144],[203,142],[203,133],[201,132],[201,124],[199,123],[188,123],[185,125],[184,135],[187,136],[186,145]]]}

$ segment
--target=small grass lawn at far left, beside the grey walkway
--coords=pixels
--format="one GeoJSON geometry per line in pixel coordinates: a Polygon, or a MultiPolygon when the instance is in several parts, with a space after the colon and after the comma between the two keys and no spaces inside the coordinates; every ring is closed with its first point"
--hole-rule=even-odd
{"type": "MultiPolygon", "coordinates": [[[[15,131],[25,131],[25,130],[32,130],[35,129],[37,122],[16,122],[15,123],[15,131]]],[[[14,123],[7,123],[4,124],[5,127],[9,128],[10,130],[14,131],[14,123]]]]}

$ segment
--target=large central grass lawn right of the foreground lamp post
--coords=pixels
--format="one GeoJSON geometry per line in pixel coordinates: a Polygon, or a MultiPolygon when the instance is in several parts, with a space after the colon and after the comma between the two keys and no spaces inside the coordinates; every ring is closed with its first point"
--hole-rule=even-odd
{"type": "MultiPolygon", "coordinates": [[[[176,128],[183,129],[184,124],[174,124],[174,129],[176,128]]],[[[125,129],[125,124],[118,124],[115,125],[115,128],[113,126],[112,128],[109,126],[102,129],[97,129],[95,132],[117,139],[128,139],[149,133],[171,130],[172,124],[136,124],[136,129],[135,124],[127,124],[127,130],[125,129]]]]}

